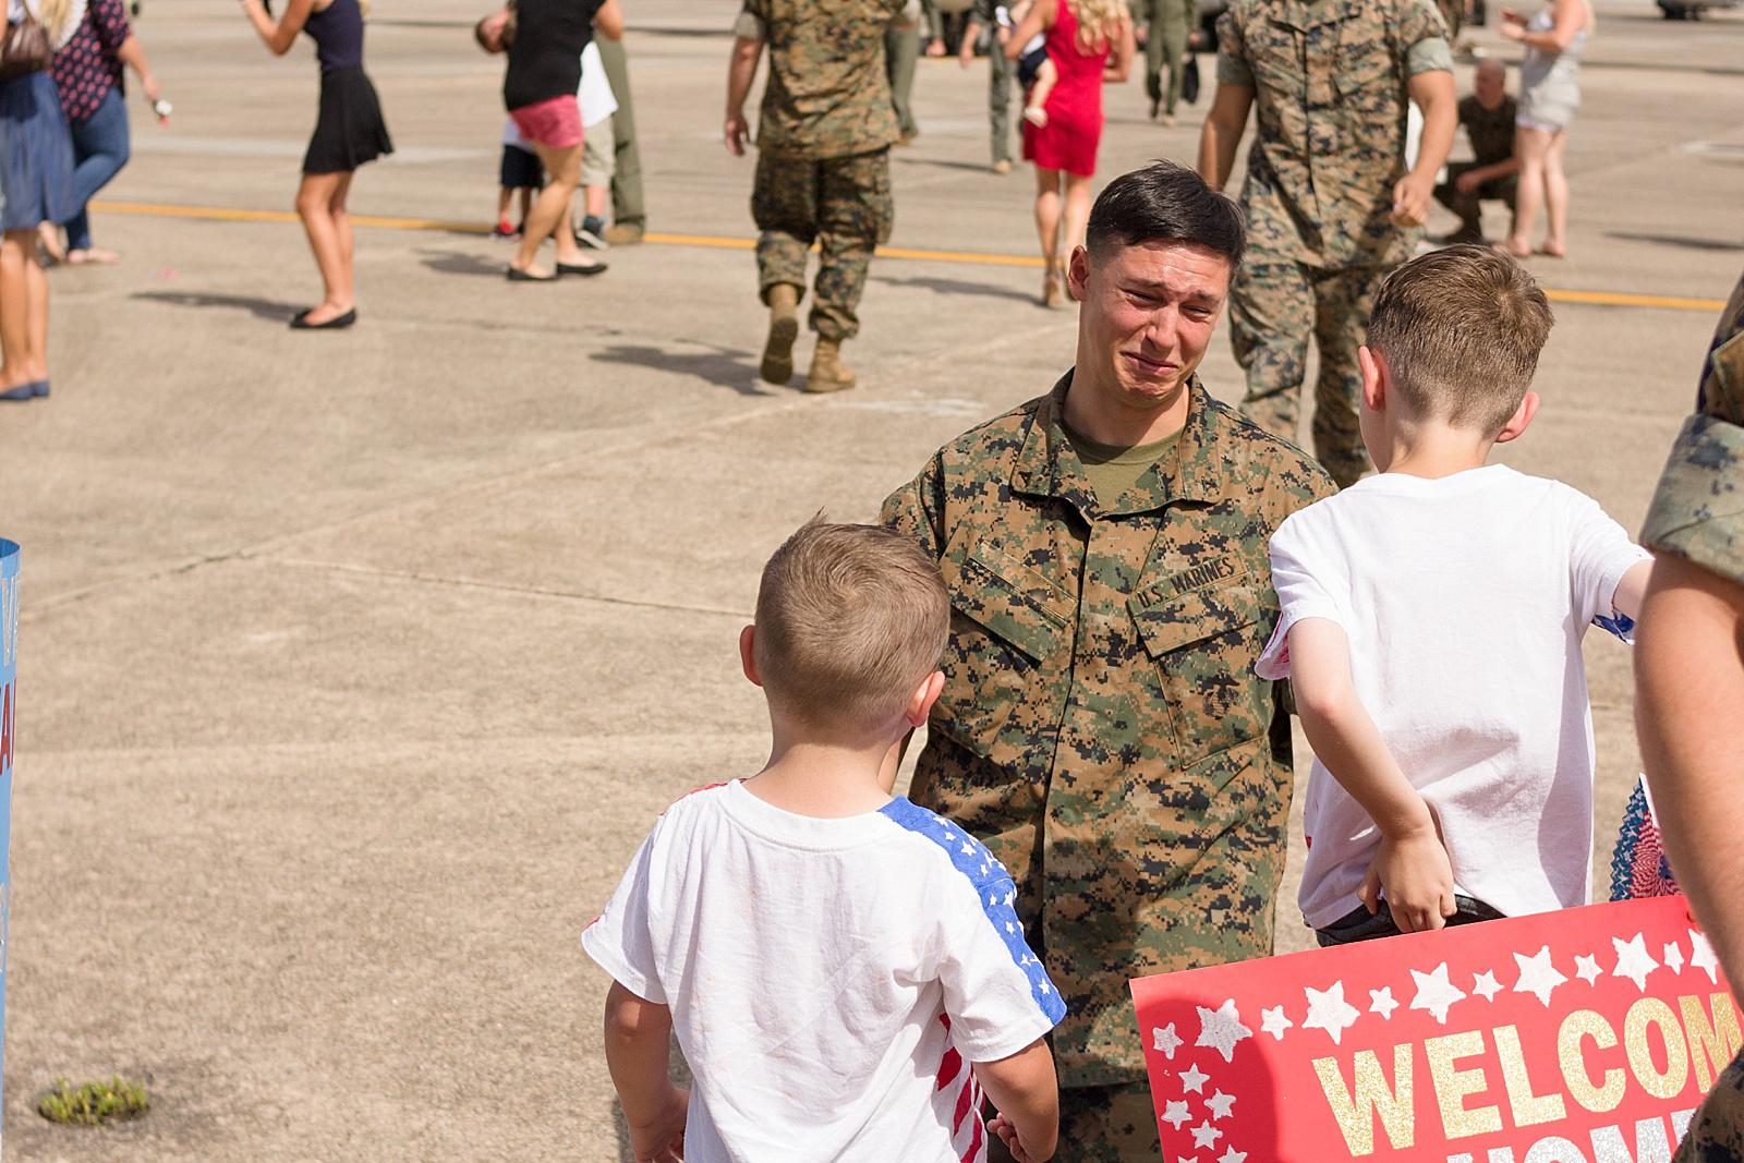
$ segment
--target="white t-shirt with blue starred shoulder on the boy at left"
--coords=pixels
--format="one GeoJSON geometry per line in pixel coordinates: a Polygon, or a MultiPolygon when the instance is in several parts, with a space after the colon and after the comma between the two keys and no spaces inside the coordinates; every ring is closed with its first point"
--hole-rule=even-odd
{"type": "Polygon", "coordinates": [[[814,820],[734,779],[666,809],[582,945],[671,1008],[687,1163],[957,1163],[985,1156],[968,1062],[1066,1015],[1015,898],[905,799],[814,820]]]}

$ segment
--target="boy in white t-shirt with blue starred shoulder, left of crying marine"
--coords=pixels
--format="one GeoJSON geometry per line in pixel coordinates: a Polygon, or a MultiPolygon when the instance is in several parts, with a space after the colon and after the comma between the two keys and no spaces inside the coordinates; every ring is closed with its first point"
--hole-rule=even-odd
{"type": "Polygon", "coordinates": [[[668,807],[582,933],[616,978],[605,1057],[635,1158],[982,1160],[982,1088],[1017,1160],[1053,1154],[1043,1036],[1066,1006],[1012,877],[889,793],[949,610],[938,567],[879,527],[811,521],[764,568],[739,657],[769,764],[668,807]]]}

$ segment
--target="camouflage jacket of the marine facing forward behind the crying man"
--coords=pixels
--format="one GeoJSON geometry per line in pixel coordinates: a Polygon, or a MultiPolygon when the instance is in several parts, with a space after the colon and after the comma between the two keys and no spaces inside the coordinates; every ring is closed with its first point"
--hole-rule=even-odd
{"type": "Polygon", "coordinates": [[[1406,77],[1453,68],[1428,0],[1233,0],[1217,82],[1254,91],[1250,262],[1392,267],[1416,230],[1388,216],[1406,176],[1406,77]]]}

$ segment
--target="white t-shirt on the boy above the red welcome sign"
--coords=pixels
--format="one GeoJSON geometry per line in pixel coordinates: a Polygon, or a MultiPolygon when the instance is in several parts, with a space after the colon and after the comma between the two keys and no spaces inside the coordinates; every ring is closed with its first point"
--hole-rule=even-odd
{"type": "MultiPolygon", "coordinates": [[[[1592,713],[1580,638],[1627,635],[1617,582],[1646,551],[1580,492],[1503,466],[1383,473],[1294,513],[1271,537],[1282,617],[1263,678],[1291,673],[1289,628],[1338,622],[1399,767],[1441,814],[1458,889],[1505,915],[1587,903],[1592,713]]],[[[1360,907],[1381,837],[1315,760],[1301,907],[1360,907]]]]}

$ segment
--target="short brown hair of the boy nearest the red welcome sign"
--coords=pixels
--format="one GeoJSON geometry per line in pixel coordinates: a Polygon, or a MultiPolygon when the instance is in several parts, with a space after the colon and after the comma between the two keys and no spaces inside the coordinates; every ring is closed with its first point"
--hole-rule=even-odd
{"type": "Polygon", "coordinates": [[[1418,413],[1495,436],[1531,387],[1554,323],[1517,262],[1488,246],[1449,246],[1386,275],[1369,347],[1418,413]]]}

